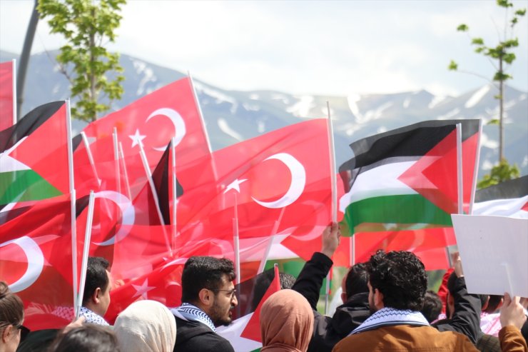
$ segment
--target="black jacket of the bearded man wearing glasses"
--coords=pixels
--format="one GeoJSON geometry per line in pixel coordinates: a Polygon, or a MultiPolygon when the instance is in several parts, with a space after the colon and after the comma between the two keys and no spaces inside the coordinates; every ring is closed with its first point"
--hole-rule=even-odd
{"type": "Polygon", "coordinates": [[[174,352],[235,352],[229,341],[203,323],[175,318],[174,352]]]}

